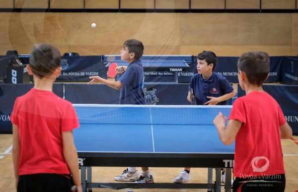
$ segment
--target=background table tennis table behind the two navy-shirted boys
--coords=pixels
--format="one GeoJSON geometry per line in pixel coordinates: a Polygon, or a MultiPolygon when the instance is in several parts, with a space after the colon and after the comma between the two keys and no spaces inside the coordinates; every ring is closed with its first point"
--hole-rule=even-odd
{"type": "MultiPolygon", "coordinates": [[[[108,70],[111,63],[117,63],[118,66],[124,65],[128,66],[127,61],[120,59],[114,59],[110,61],[105,67],[106,71],[108,70]]],[[[150,82],[150,84],[160,84],[158,77],[167,76],[173,78],[167,78],[163,82],[167,84],[177,84],[178,83],[178,73],[186,72],[189,70],[189,65],[183,59],[151,59],[151,60],[142,60],[144,73],[145,73],[145,83],[150,82]]],[[[118,81],[120,74],[115,77],[115,80],[118,81]]]]}

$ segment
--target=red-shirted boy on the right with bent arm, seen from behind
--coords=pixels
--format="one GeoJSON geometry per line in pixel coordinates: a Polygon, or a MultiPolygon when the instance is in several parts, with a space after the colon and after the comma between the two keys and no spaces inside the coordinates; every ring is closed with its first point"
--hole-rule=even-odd
{"type": "Polygon", "coordinates": [[[241,55],[238,80],[246,96],[233,103],[228,123],[220,112],[214,124],[222,142],[235,140],[234,192],[283,192],[285,169],[280,139],[292,137],[292,129],[277,101],[263,91],[269,76],[269,56],[254,51],[241,55]]]}

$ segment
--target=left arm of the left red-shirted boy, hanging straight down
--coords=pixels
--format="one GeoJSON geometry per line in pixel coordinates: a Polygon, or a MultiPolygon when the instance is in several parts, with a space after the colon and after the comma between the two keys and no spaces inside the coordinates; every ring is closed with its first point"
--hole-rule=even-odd
{"type": "Polygon", "coordinates": [[[20,154],[21,154],[21,142],[20,142],[18,127],[17,125],[12,124],[12,161],[13,161],[16,189],[17,189],[17,184],[19,179],[18,165],[20,161],[20,154]]]}

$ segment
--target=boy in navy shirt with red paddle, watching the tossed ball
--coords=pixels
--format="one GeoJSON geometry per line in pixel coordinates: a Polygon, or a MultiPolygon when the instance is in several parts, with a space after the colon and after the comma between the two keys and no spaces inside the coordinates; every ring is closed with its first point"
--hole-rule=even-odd
{"type": "MultiPolygon", "coordinates": [[[[120,51],[121,60],[129,63],[127,66],[118,66],[116,71],[122,69],[123,75],[119,81],[109,81],[99,76],[90,77],[92,79],[88,85],[93,83],[104,83],[116,90],[120,89],[119,104],[146,104],[144,100],[144,69],[141,60],[144,52],[142,42],[138,40],[127,40],[120,51]]],[[[136,183],[154,183],[153,177],[149,173],[149,167],[142,167],[142,175],[139,175],[136,167],[129,167],[123,173],[115,177],[116,181],[135,181],[136,183]]]]}

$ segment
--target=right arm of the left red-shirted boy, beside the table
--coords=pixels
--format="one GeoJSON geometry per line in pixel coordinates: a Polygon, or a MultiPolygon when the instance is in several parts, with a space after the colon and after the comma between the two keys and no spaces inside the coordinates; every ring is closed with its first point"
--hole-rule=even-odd
{"type": "Polygon", "coordinates": [[[73,131],[62,132],[63,140],[63,154],[66,163],[73,176],[74,185],[76,185],[77,192],[82,192],[82,186],[80,183],[79,171],[78,171],[78,161],[77,152],[74,146],[74,136],[73,131]]]}

